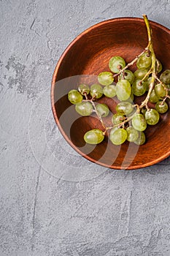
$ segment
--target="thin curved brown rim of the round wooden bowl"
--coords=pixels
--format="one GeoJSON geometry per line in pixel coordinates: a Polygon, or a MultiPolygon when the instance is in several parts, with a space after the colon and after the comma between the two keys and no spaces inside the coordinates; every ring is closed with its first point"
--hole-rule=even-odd
{"type": "MultiPolygon", "coordinates": [[[[70,146],[72,146],[72,148],[74,148],[75,151],[77,151],[77,153],[79,153],[80,155],[82,155],[82,157],[85,157],[86,159],[90,160],[90,162],[94,162],[98,165],[104,166],[104,167],[108,167],[110,169],[116,169],[116,170],[135,170],[135,169],[139,169],[139,168],[143,168],[143,167],[148,167],[150,165],[155,165],[158,162],[163,161],[163,159],[166,159],[167,157],[170,156],[170,148],[169,151],[167,151],[166,154],[164,154],[162,157],[159,157],[158,159],[152,160],[150,162],[147,162],[143,165],[133,165],[133,166],[128,166],[128,167],[123,167],[123,166],[114,166],[114,165],[107,165],[104,164],[102,162],[98,162],[95,161],[93,158],[88,157],[88,155],[83,154],[82,151],[79,150],[79,148],[77,148],[76,146],[74,146],[74,144],[72,143],[72,140],[69,140],[69,138],[67,137],[66,133],[63,131],[63,128],[61,127],[60,121],[58,120],[58,116],[55,113],[55,101],[54,101],[54,90],[55,90],[55,78],[56,75],[58,73],[58,69],[61,65],[61,61],[63,61],[63,58],[66,56],[67,52],[69,51],[70,48],[72,48],[72,45],[74,45],[75,42],[77,42],[77,40],[79,40],[81,37],[83,37],[85,34],[87,34],[89,31],[93,30],[94,28],[97,28],[98,26],[101,26],[103,24],[106,23],[112,23],[112,22],[119,22],[121,20],[136,20],[139,22],[144,22],[144,20],[142,18],[134,18],[134,17],[122,17],[122,18],[112,18],[109,20],[104,20],[101,21],[99,23],[94,24],[93,26],[90,26],[90,28],[85,29],[85,31],[82,31],[81,34],[79,34],[77,37],[75,37],[73,39],[73,41],[67,46],[67,48],[63,51],[60,59],[58,60],[58,63],[55,66],[55,70],[53,72],[53,78],[52,78],[52,83],[51,83],[51,92],[50,92],[50,96],[51,96],[51,106],[52,106],[52,110],[53,110],[53,116],[55,119],[55,123],[58,125],[58,129],[60,130],[61,134],[63,135],[63,138],[65,138],[65,140],[69,143],[70,146]]],[[[165,26],[150,20],[150,24],[153,26],[157,26],[160,29],[163,29],[164,31],[166,31],[167,33],[170,33],[170,29],[166,28],[165,26]]]]}

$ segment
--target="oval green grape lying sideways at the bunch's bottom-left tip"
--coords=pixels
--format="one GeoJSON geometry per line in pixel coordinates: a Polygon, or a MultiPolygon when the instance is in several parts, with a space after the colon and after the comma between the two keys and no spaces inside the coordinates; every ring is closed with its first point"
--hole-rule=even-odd
{"type": "Polygon", "coordinates": [[[96,145],[104,140],[104,134],[101,129],[90,129],[85,133],[84,140],[88,144],[96,145]]]}

